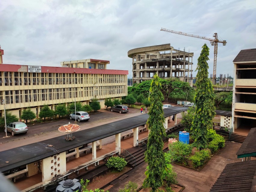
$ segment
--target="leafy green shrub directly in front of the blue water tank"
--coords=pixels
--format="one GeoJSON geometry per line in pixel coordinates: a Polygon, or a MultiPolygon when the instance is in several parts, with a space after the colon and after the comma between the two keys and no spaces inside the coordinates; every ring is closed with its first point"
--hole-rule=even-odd
{"type": "Polygon", "coordinates": [[[171,161],[187,165],[192,148],[191,145],[178,141],[169,145],[170,150],[167,153],[170,153],[171,161]]]}

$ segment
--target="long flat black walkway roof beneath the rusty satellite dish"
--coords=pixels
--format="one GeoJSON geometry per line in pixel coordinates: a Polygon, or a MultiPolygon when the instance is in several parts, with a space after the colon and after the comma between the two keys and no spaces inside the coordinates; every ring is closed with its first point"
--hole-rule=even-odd
{"type": "MultiPolygon", "coordinates": [[[[172,116],[187,110],[186,107],[169,107],[164,109],[164,117],[172,116]]],[[[145,125],[148,120],[148,114],[138,115],[127,119],[107,123],[79,132],[73,132],[76,138],[72,141],[65,139],[66,135],[44,141],[16,147],[0,152],[0,172],[5,172],[15,167],[20,167],[45,159],[69,149],[73,149],[83,144],[98,141],[103,138],[121,133],[135,127],[145,125]],[[53,147],[47,147],[53,145],[53,147]]]]}

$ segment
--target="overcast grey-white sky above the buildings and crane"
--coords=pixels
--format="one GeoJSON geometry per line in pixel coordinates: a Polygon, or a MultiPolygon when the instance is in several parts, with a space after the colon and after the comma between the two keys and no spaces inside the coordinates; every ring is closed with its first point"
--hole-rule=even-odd
{"type": "MultiPolygon", "coordinates": [[[[160,31],[161,28],[214,39],[217,76],[231,74],[242,49],[256,48],[255,0],[1,0],[0,45],[3,63],[61,67],[62,61],[109,60],[107,69],[128,70],[134,48],[170,43],[194,53],[193,77],[204,39],[160,31]]],[[[0,66],[1,67],[1,66],[0,66]]]]}

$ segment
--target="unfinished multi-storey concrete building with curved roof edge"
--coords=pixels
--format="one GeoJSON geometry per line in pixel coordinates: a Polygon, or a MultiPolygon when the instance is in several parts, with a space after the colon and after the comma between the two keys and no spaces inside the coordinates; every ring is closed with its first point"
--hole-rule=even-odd
{"type": "Polygon", "coordinates": [[[157,73],[160,78],[177,77],[192,86],[193,55],[174,49],[170,44],[131,49],[128,57],[133,59],[133,82],[153,79],[157,73]]]}

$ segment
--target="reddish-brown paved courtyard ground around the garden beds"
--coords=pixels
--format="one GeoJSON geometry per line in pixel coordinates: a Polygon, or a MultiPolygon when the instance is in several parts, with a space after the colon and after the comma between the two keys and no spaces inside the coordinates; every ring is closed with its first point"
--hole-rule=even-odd
{"type": "MultiPolygon", "coordinates": [[[[225,147],[220,149],[200,172],[173,164],[179,184],[186,187],[183,192],[208,192],[226,164],[242,161],[241,159],[237,159],[236,156],[236,152],[240,146],[241,143],[226,141],[225,147]]],[[[145,162],[136,166],[126,174],[128,177],[108,190],[110,192],[118,191],[124,188],[125,184],[129,181],[136,182],[138,187],[141,187],[145,179],[144,173],[146,166],[147,164],[145,162]]]]}

